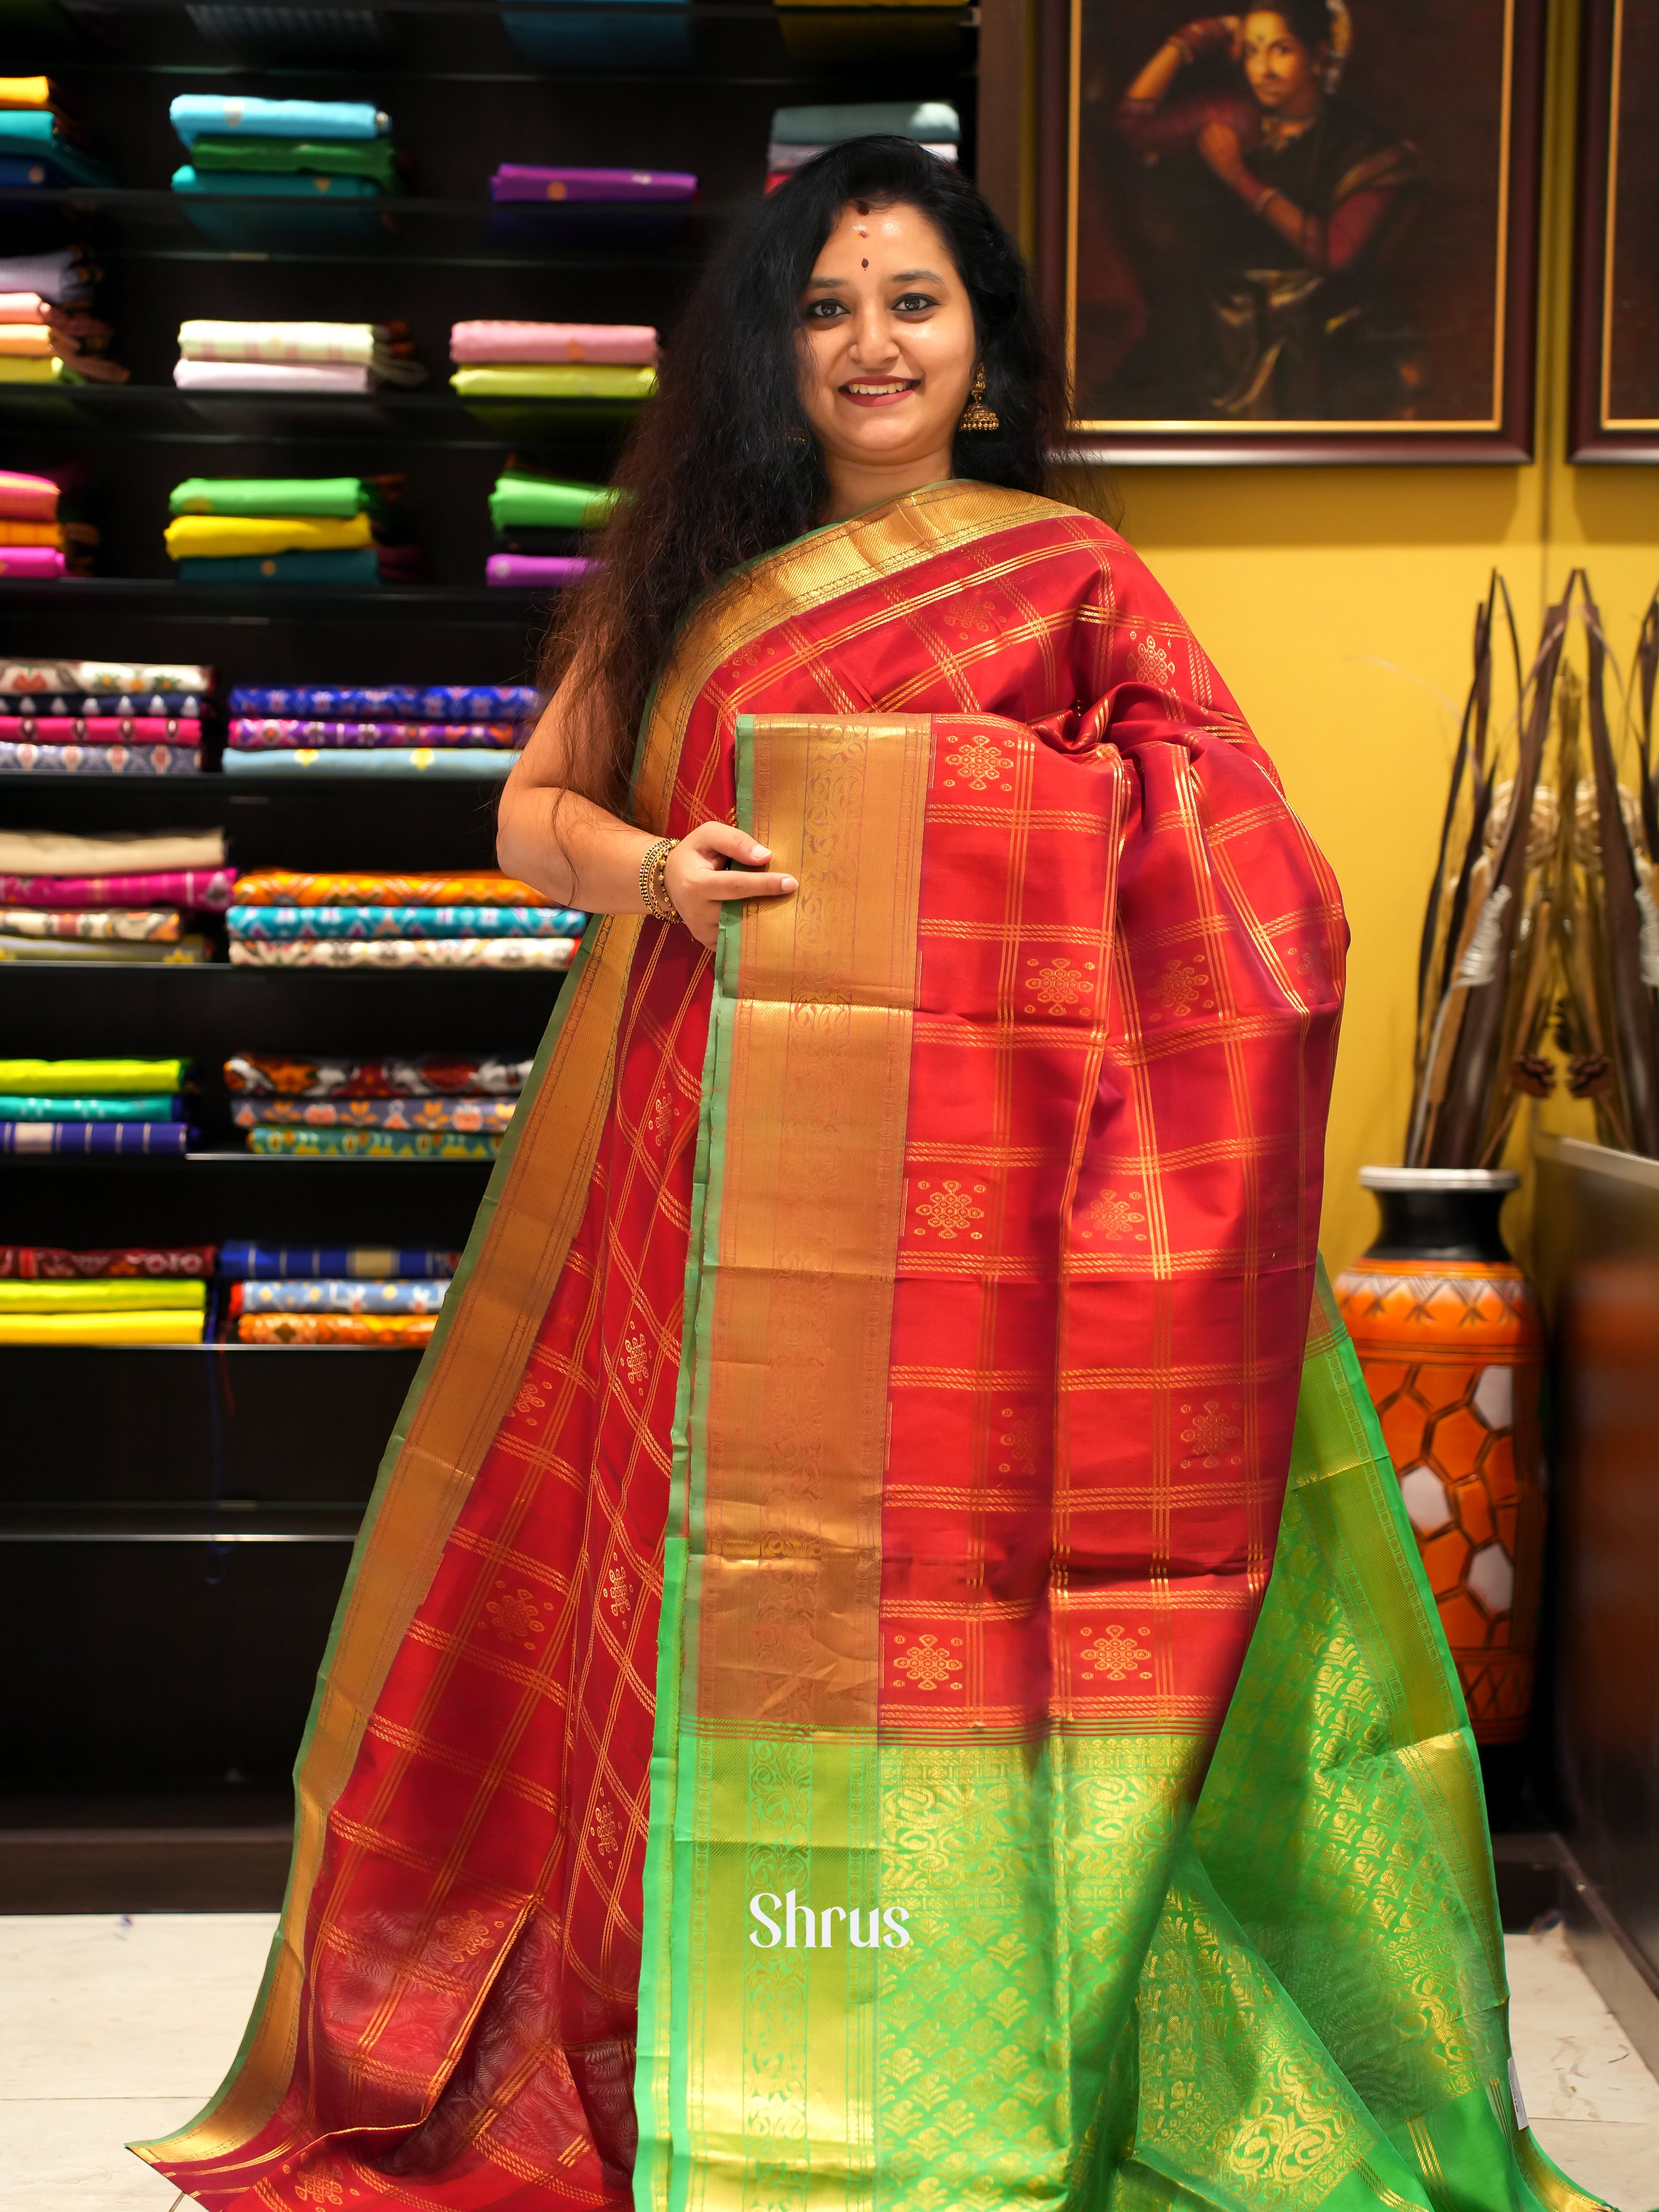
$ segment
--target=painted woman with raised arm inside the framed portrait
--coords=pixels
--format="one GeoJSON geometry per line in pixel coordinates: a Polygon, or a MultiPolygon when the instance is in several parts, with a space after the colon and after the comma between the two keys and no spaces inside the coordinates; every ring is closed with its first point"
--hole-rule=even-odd
{"type": "Polygon", "coordinates": [[[1157,170],[1181,237],[1164,288],[1183,294],[1152,316],[1130,380],[1157,374],[1161,338],[1212,416],[1376,420],[1422,400],[1427,356],[1383,272],[1418,157],[1327,91],[1334,73],[1327,0],[1290,0],[1188,22],[1130,84],[1117,124],[1157,170]],[[1217,75],[1228,64],[1243,84],[1217,75]]]}

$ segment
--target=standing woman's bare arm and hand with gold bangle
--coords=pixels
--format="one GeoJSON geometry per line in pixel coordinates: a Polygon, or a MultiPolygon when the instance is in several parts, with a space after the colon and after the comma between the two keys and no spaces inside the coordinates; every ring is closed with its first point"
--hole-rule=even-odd
{"type": "MultiPolygon", "coordinates": [[[[650,830],[571,790],[573,710],[580,664],[566,675],[513,763],[495,816],[495,858],[509,876],[560,907],[584,914],[641,914],[639,863],[657,843],[650,830]]],[[[732,823],[699,823],[668,854],[664,885],[699,945],[712,945],[728,898],[787,898],[794,876],[750,874],[772,858],[732,823]]]]}

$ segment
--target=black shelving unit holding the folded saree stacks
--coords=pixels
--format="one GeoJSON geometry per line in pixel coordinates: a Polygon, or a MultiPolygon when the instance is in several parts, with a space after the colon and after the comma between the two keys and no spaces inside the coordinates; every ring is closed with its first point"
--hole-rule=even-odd
{"type": "MultiPolygon", "coordinates": [[[[272,13],[270,0],[257,11],[272,13]]],[[[104,272],[97,312],[133,380],[0,387],[0,465],[82,460],[102,531],[95,577],[0,582],[0,655],[208,661],[221,688],[526,681],[551,606],[484,586],[489,487],[509,451],[604,478],[615,431],[555,407],[462,403],[447,383],[449,325],[628,321],[672,343],[688,283],[761,188],[779,104],[949,97],[973,159],[971,9],[918,13],[907,42],[894,9],[834,22],[814,9],[812,24],[785,27],[765,0],[710,0],[692,7],[690,69],[580,73],[526,62],[493,0],[352,0],[341,13],[363,27],[367,51],[226,44],[197,22],[223,24],[230,11],[184,0],[64,0],[58,29],[42,13],[7,46],[4,69],[49,69],[64,86],[119,184],[0,192],[0,250],[84,239],[104,272]],[[834,24],[863,24],[869,40],[854,38],[849,60],[825,55],[834,24]],[[336,223],[299,237],[261,237],[252,223],[241,241],[210,237],[201,223],[215,212],[168,190],[184,159],[168,102],[186,91],[369,97],[414,157],[411,190],[341,206],[336,223]],[[538,221],[491,210],[498,161],[686,168],[701,197],[672,221],[659,210],[604,228],[562,210],[538,221]],[[175,334],[204,314],[400,319],[429,380],[369,398],[186,394],[173,385],[175,334]],[[356,593],[175,582],[161,531],[181,476],[385,471],[407,480],[429,582],[356,593]]],[[[495,787],[471,781],[0,779],[2,825],[221,825],[239,867],[493,865],[493,805],[495,787]]],[[[7,1053],[188,1053],[204,1093],[201,1144],[184,1161],[0,1164],[0,1243],[460,1245],[484,1166],[252,1159],[234,1148],[219,1066],[237,1048],[526,1055],[557,982],[4,967],[7,1053]]],[[[168,1832],[223,1820],[232,1798],[281,1801],[347,1546],[414,1369],[414,1354],[354,1347],[0,1354],[11,1447],[0,1458],[0,1666],[38,1686],[0,1719],[11,1792],[0,1827],[62,1820],[71,1798],[108,1798],[122,1827],[148,1818],[133,1812],[135,1792],[166,1805],[168,1832]]],[[[0,1889],[2,1869],[4,1854],[0,1889]]]]}

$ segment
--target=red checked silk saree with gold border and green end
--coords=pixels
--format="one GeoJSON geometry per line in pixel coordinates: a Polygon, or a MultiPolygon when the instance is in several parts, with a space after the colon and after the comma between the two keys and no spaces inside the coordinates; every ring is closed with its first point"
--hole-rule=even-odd
{"type": "Polygon", "coordinates": [[[387,1451],[221,2212],[1590,2208],[1318,1283],[1336,885],[1104,524],[949,482],[690,619],[387,1451]]]}

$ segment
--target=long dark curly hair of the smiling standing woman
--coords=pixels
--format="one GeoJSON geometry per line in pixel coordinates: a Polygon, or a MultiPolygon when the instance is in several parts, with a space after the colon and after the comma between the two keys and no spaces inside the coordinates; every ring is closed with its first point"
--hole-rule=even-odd
{"type": "Polygon", "coordinates": [[[841,210],[920,210],[973,303],[995,431],[962,431],[956,476],[1037,491],[1066,429],[1057,347],[1020,248],[975,188],[902,137],[832,146],[770,192],[697,283],[597,538],[602,568],[566,595],[542,657],[551,692],[580,664],[571,787],[619,807],[650,686],[688,608],[726,571],[823,520],[830,480],[801,405],[801,292],[841,210]]]}

